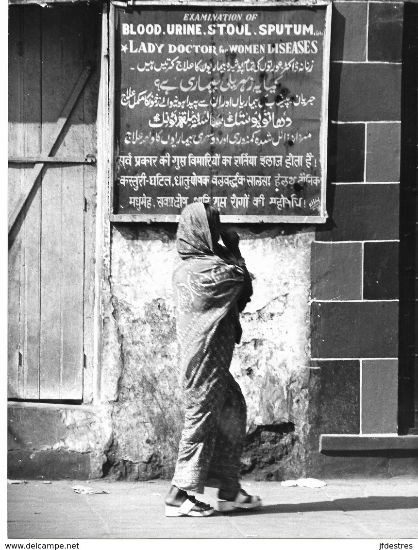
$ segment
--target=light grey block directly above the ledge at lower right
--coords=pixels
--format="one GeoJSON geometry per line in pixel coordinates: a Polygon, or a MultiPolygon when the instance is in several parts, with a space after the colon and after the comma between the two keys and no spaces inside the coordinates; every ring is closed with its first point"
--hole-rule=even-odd
{"type": "Polygon", "coordinates": [[[361,433],[397,433],[397,430],[398,361],[397,359],[363,361],[361,433]]]}

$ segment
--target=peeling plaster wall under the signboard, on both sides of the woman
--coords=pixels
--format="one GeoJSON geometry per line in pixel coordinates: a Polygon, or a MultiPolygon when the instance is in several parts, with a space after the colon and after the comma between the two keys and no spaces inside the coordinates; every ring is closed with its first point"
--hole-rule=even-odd
{"type": "MultiPolygon", "coordinates": [[[[302,227],[258,234],[236,229],[254,285],[252,302],[242,315],[242,343],[231,366],[247,400],[248,433],[255,432],[243,456],[243,471],[264,466],[263,475],[270,477],[302,473],[314,233],[302,227]]],[[[113,228],[113,320],[107,321],[107,383],[102,383],[102,392],[114,401],[113,445],[104,471],[116,477],[170,476],[174,467],[182,428],[171,288],[175,259],[175,228],[113,228]]]]}

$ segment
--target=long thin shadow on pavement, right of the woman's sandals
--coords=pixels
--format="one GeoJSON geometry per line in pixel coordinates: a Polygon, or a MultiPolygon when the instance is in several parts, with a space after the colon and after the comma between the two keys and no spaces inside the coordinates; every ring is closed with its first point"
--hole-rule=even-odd
{"type": "Polygon", "coordinates": [[[418,497],[358,497],[336,498],[335,500],[321,500],[320,502],[301,502],[298,504],[268,504],[258,510],[236,511],[234,516],[252,514],[296,514],[297,512],[321,511],[371,511],[371,510],[399,510],[418,508],[418,497]]]}

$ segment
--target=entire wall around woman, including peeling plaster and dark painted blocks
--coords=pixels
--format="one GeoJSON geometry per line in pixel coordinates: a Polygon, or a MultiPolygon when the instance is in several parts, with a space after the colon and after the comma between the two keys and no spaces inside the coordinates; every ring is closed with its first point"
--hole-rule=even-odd
{"type": "MultiPolygon", "coordinates": [[[[254,284],[231,365],[248,405],[245,474],[414,471],[415,459],[318,449],[320,434],[395,433],[410,421],[402,400],[398,414],[398,381],[406,403],[416,290],[414,277],[399,285],[398,266],[416,273],[416,8],[333,3],[325,226],[234,227],[254,284]]],[[[172,474],[182,428],[175,225],[104,231],[100,402],[10,406],[9,475],[172,474]]]]}

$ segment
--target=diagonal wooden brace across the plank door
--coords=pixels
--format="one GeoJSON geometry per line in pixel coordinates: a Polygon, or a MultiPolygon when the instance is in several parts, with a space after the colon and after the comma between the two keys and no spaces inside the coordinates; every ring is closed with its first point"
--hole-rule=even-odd
{"type": "MultiPolygon", "coordinates": [[[[86,67],[83,70],[83,72],[79,76],[79,79],[77,80],[77,83],[74,87],[73,92],[71,93],[70,97],[68,98],[68,101],[65,103],[63,111],[60,114],[59,119],[57,120],[57,124],[54,128],[55,131],[54,131],[53,135],[51,136],[51,139],[49,139],[47,144],[44,146],[44,149],[46,149],[48,155],[51,155],[51,152],[52,152],[55,144],[57,143],[58,138],[59,138],[64,126],[65,126],[65,123],[67,122],[68,117],[71,114],[71,111],[73,111],[74,106],[77,102],[77,99],[80,97],[80,94],[83,91],[83,88],[86,85],[88,77],[90,76],[91,72],[92,72],[91,67],[86,67]]],[[[36,180],[38,179],[40,173],[42,172],[43,167],[44,167],[44,163],[39,163],[39,164],[36,164],[36,166],[34,168],[32,168],[27,189],[19,197],[18,203],[16,204],[12,214],[9,217],[9,220],[8,220],[8,234],[10,234],[10,232],[12,231],[12,229],[14,227],[14,224],[16,223],[16,220],[19,217],[20,212],[23,210],[23,207],[26,204],[27,198],[29,197],[32,189],[34,188],[36,180]]]]}

